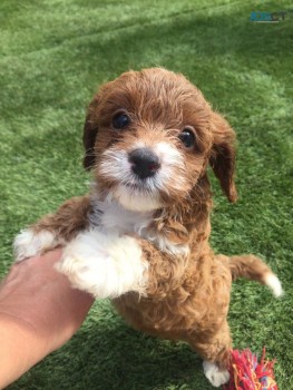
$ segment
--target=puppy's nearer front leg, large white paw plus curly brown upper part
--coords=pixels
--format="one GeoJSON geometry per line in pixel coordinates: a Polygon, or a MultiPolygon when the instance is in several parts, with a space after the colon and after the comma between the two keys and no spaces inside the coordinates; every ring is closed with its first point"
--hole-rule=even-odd
{"type": "Polygon", "coordinates": [[[178,285],[180,259],[170,260],[149,242],[89,228],[65,248],[58,270],[71,284],[95,298],[118,298],[137,292],[162,300],[178,285]]]}

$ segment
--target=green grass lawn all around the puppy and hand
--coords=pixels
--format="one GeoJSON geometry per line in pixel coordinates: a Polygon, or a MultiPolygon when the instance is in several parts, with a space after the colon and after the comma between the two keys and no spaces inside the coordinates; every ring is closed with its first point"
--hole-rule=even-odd
{"type": "MultiPolygon", "coordinates": [[[[274,300],[255,283],[235,283],[234,347],[266,345],[279,388],[293,389],[293,18],[248,20],[253,10],[284,9],[290,1],[2,0],[0,274],[21,227],[87,191],[81,129],[96,88],[129,68],[180,71],[238,137],[240,201],[229,205],[213,181],[212,244],[262,255],[286,291],[274,300]]],[[[201,364],[183,343],[130,330],[104,301],[67,345],[9,389],[212,389],[201,364]]]]}

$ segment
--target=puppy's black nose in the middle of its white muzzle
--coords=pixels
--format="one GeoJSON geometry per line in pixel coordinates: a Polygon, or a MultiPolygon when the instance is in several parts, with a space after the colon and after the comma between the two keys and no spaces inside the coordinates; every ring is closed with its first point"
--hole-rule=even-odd
{"type": "Polygon", "coordinates": [[[128,160],[131,164],[133,172],[139,178],[154,176],[160,166],[159,159],[155,153],[146,147],[130,152],[128,160]]]}

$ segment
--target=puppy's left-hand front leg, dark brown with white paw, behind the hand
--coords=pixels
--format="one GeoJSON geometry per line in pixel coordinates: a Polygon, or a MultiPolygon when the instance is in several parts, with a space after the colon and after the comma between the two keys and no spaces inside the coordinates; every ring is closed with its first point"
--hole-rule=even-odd
{"type": "Polygon", "coordinates": [[[90,209],[88,196],[74,197],[55,214],[46,215],[20,232],[13,243],[16,261],[41,254],[72,240],[79,231],[88,227],[90,209]]]}

